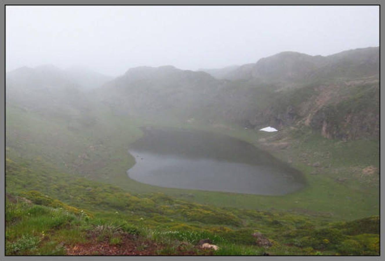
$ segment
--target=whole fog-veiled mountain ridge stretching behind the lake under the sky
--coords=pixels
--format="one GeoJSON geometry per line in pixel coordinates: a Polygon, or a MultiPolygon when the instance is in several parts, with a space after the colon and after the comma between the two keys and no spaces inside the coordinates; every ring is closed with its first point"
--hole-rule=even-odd
{"type": "MultiPolygon", "coordinates": [[[[7,88],[34,81],[40,86],[40,80],[49,79],[41,78],[47,70],[54,72],[48,84],[80,88],[52,65],[8,73],[7,88]],[[18,76],[10,80],[14,74],[18,76]]],[[[378,137],[379,47],[328,56],[281,52],[228,75],[234,77],[217,79],[172,65],[140,66],[106,80],[87,96],[122,115],[194,118],[210,124],[224,120],[254,129],[308,126],[329,139],[378,137]]]]}

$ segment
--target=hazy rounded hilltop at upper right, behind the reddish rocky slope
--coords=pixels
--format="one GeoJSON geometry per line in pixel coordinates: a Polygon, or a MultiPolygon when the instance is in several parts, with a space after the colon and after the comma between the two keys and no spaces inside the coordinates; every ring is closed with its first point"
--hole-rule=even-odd
{"type": "Polygon", "coordinates": [[[289,51],[261,58],[254,64],[242,65],[229,72],[224,78],[288,82],[304,80],[315,75],[323,75],[322,77],[328,78],[350,77],[352,74],[359,73],[362,76],[373,74],[377,64],[378,47],[347,50],[328,56],[313,56],[289,51]],[[368,64],[365,70],[358,68],[362,62],[368,64]]]}

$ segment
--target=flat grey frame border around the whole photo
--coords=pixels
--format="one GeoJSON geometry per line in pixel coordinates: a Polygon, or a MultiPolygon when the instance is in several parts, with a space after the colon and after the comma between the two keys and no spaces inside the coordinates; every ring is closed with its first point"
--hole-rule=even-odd
{"type": "MultiPolygon", "coordinates": [[[[21,261],[21,260],[33,260],[33,261],[62,261],[62,260],[84,260],[84,261],[101,261],[101,260],[160,260],[160,261],[168,261],[168,260],[181,260],[181,261],[192,261],[192,260],[381,260],[380,256],[5,256],[5,5],[380,5],[381,1],[379,0],[0,0],[1,1],[1,16],[0,19],[0,35],[2,36],[2,40],[0,41],[0,49],[3,50],[1,52],[2,63],[0,63],[0,79],[4,83],[3,88],[0,92],[0,100],[1,100],[1,115],[2,120],[1,123],[1,133],[2,139],[0,139],[0,144],[3,149],[1,149],[1,163],[0,163],[0,173],[1,173],[1,191],[0,193],[0,212],[1,212],[1,220],[0,220],[0,261],[21,261]],[[4,37],[3,37],[4,36],[4,37]]],[[[381,8],[379,8],[381,10],[381,8]]],[[[383,11],[380,11],[380,21],[381,14],[383,11]]],[[[382,27],[382,22],[380,24],[380,28],[382,27]]],[[[381,35],[380,35],[381,36],[381,35]]],[[[383,35],[382,35],[383,36],[383,35]]],[[[383,37],[380,37],[380,42],[383,37]]],[[[381,48],[380,48],[381,50],[381,48]]],[[[381,58],[381,51],[380,51],[381,58]]],[[[380,64],[383,61],[383,57],[380,60],[380,64]]],[[[383,76],[382,72],[380,74],[383,76]]],[[[383,100],[385,94],[380,92],[380,104],[383,100]]],[[[385,113],[382,113],[383,108],[380,109],[380,120],[383,119],[385,113]]],[[[383,131],[380,129],[380,136],[383,134],[383,131]]],[[[380,142],[381,144],[381,142],[380,142]]],[[[382,145],[380,146],[382,148],[382,145]]],[[[380,154],[380,163],[385,161],[385,156],[380,154]]],[[[380,196],[383,199],[383,193],[380,196]]],[[[383,208],[380,206],[380,221],[382,221],[383,208]]],[[[382,223],[382,222],[381,222],[382,223]]],[[[384,231],[384,226],[380,226],[380,238],[384,231]]],[[[380,240],[380,249],[381,253],[384,252],[384,244],[383,241],[380,240]]]]}

